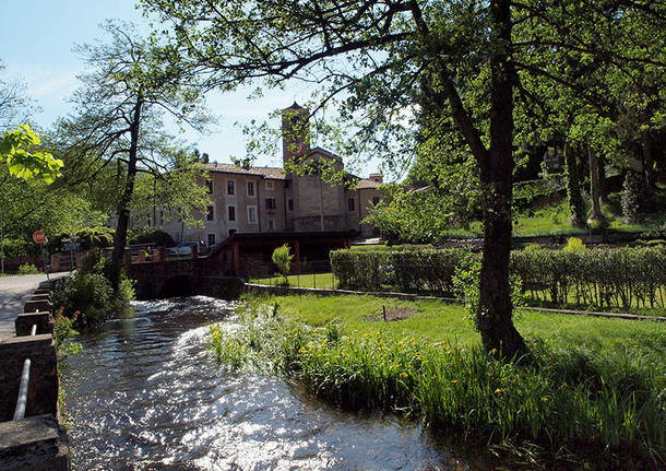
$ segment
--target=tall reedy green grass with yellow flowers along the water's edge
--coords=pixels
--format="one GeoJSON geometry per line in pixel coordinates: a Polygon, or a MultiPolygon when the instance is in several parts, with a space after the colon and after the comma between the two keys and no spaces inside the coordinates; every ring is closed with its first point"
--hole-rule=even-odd
{"type": "MultiPolygon", "coordinates": [[[[649,464],[664,449],[663,365],[631,352],[533,342],[532,364],[504,364],[467,342],[429,342],[383,323],[358,330],[334,321],[305,325],[290,315],[324,313],[312,303],[319,301],[359,310],[341,298],[280,299],[302,309],[276,316],[270,299],[251,299],[240,307],[240,329],[211,328],[210,348],[223,366],[282,374],[345,408],[419,416],[433,428],[454,427],[514,452],[535,444],[546,456],[587,449],[575,457],[587,469],[649,464]]],[[[455,316],[439,322],[453,323],[455,316]]]]}

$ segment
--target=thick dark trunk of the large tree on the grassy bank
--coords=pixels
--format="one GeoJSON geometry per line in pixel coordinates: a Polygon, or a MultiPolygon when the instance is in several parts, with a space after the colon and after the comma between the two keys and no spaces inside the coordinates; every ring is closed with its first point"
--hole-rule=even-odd
{"type": "Polygon", "coordinates": [[[490,149],[479,162],[484,255],[479,280],[477,327],[484,346],[503,357],[527,352],[513,326],[509,258],[513,193],[513,80],[511,61],[511,2],[490,3],[495,50],[491,58],[490,149]]]}

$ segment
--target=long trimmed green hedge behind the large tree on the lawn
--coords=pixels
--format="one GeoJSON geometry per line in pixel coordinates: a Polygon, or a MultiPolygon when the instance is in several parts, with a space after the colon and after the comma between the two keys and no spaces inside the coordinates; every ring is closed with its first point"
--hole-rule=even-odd
{"type": "MultiPolygon", "coordinates": [[[[453,294],[461,249],[331,252],[340,287],[360,291],[453,294]]],[[[511,272],[521,278],[530,304],[594,308],[666,307],[666,249],[618,248],[515,250],[511,272]]]]}

